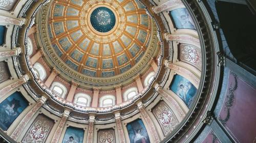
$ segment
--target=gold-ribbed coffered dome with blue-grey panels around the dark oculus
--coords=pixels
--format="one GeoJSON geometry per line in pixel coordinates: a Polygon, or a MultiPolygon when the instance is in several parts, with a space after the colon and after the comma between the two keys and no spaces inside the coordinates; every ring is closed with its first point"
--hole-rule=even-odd
{"type": "Polygon", "coordinates": [[[60,0],[52,3],[48,27],[55,52],[69,67],[92,77],[111,77],[131,69],[142,58],[151,20],[137,0],[60,0]],[[114,16],[108,18],[104,13],[99,21],[115,20],[115,24],[92,25],[97,19],[91,20],[91,15],[100,7],[114,16]]]}

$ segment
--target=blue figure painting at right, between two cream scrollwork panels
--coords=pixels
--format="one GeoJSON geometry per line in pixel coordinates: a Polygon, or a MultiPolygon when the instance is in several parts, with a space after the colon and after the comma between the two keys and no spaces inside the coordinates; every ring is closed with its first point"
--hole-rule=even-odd
{"type": "Polygon", "coordinates": [[[194,96],[197,92],[196,87],[186,78],[175,75],[173,82],[170,84],[170,90],[177,94],[190,108],[194,96]]]}

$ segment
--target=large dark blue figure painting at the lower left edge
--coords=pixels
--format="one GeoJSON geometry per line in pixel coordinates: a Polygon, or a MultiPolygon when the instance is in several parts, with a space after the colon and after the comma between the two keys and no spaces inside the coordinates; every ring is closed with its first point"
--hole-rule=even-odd
{"type": "Polygon", "coordinates": [[[28,101],[21,93],[10,95],[0,103],[0,127],[6,131],[27,106],[28,101]]]}

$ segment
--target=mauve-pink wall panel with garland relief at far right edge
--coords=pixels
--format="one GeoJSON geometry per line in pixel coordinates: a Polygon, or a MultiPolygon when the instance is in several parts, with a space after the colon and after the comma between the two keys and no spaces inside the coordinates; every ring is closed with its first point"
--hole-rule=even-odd
{"type": "MultiPolygon", "coordinates": [[[[229,74],[226,97],[220,111],[219,120],[226,119],[228,107],[226,101],[230,95],[230,89],[235,87],[236,80],[233,74],[229,74]],[[230,88],[231,87],[231,88],[230,88]]],[[[256,89],[237,76],[237,89],[233,92],[233,104],[230,107],[230,117],[223,123],[226,130],[238,142],[256,141],[256,89]]]]}

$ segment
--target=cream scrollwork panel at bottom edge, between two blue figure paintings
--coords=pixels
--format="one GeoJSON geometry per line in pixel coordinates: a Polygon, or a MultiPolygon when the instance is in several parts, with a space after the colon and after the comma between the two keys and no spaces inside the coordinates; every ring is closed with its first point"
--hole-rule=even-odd
{"type": "Polygon", "coordinates": [[[98,143],[115,143],[115,131],[113,129],[99,130],[98,131],[98,143]]]}

